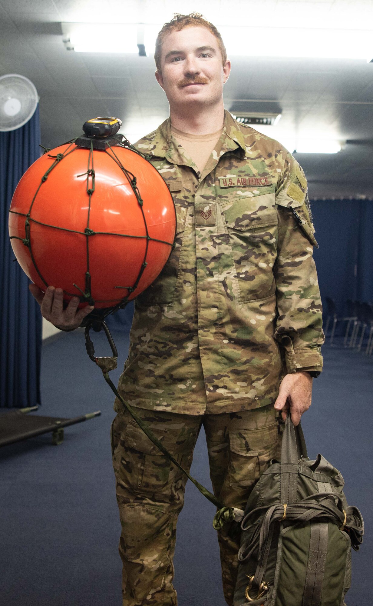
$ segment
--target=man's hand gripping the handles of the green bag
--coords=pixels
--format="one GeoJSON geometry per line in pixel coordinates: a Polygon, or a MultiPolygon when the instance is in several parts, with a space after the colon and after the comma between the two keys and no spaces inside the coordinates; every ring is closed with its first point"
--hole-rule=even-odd
{"type": "Polygon", "coordinates": [[[298,425],[303,413],[311,406],[312,377],[309,373],[299,371],[285,375],[280,384],[279,395],[274,403],[276,410],[281,410],[285,421],[288,410],[294,425],[298,425]]]}

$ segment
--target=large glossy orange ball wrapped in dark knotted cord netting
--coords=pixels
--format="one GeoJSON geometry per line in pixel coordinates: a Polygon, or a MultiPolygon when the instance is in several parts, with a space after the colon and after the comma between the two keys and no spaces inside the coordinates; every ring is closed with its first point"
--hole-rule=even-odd
{"type": "Polygon", "coordinates": [[[170,256],[173,198],[156,168],[127,147],[65,144],[17,185],[9,214],[13,251],[43,291],[64,290],[96,308],[145,290],[170,256]]]}

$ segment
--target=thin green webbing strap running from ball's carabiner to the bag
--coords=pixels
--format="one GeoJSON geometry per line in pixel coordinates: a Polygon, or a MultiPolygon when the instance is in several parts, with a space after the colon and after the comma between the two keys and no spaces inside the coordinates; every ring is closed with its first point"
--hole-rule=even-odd
{"type": "Polygon", "coordinates": [[[217,497],[213,493],[211,493],[210,490],[207,490],[207,488],[202,486],[202,484],[200,484],[195,478],[193,478],[193,476],[191,476],[190,473],[188,473],[188,471],[186,471],[180,465],[180,463],[176,461],[176,459],[173,457],[173,455],[170,452],[168,452],[167,448],[165,448],[165,446],[163,446],[162,442],[160,442],[159,439],[156,438],[156,436],[154,436],[153,431],[150,430],[148,425],[146,423],[144,423],[144,421],[142,421],[142,419],[139,417],[139,415],[137,415],[137,413],[133,410],[133,408],[129,404],[127,404],[127,402],[124,401],[122,396],[120,396],[113,381],[111,381],[111,379],[110,379],[109,373],[103,371],[102,374],[104,375],[105,381],[107,382],[108,385],[110,385],[110,387],[113,390],[116,397],[120,400],[120,402],[122,402],[122,404],[124,405],[126,410],[128,410],[128,412],[130,413],[132,418],[136,421],[137,425],[139,425],[139,427],[142,429],[142,431],[144,431],[144,433],[148,436],[150,441],[153,442],[153,444],[157,448],[159,448],[159,450],[163,454],[165,454],[165,456],[167,456],[167,458],[170,459],[170,461],[172,461],[173,464],[176,465],[176,467],[179,467],[180,471],[185,473],[185,475],[190,479],[190,481],[193,482],[194,486],[196,486],[198,488],[200,493],[202,493],[203,496],[210,501],[210,503],[212,503],[217,508],[219,508],[219,511],[217,511],[217,514],[214,517],[214,521],[213,521],[214,528],[216,530],[220,530],[220,528],[223,527],[224,522],[233,522],[234,521],[233,507],[225,507],[225,505],[222,503],[222,501],[217,499],[217,497]]]}

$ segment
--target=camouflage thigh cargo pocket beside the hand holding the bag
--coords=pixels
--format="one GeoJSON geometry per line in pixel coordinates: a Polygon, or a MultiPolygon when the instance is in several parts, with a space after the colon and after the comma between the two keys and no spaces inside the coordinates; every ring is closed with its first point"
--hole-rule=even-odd
{"type": "Polygon", "coordinates": [[[229,431],[229,486],[252,488],[276,458],[277,423],[260,429],[229,431]]]}

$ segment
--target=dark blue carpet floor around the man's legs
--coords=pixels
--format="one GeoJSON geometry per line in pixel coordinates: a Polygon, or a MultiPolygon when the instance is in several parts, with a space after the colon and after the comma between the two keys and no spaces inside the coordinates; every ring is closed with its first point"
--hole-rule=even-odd
{"type": "MultiPolygon", "coordinates": [[[[94,333],[93,340],[96,355],[110,354],[103,335],[94,333]]],[[[122,367],[128,336],[116,333],[114,340],[122,367]]],[[[338,347],[323,353],[325,373],[314,381],[313,404],[302,425],[309,456],[321,451],[342,471],[348,502],[365,518],[347,604],[371,606],[373,359],[338,347]]],[[[119,374],[111,373],[114,382],[119,374]]],[[[0,449],[0,605],[121,606],[109,436],[113,397],[85,353],[82,331],[43,348],[42,404],[41,415],[102,414],[66,428],[62,445],[51,445],[46,435],[0,449]]],[[[202,431],[192,473],[210,487],[206,460],[202,431]]],[[[214,507],[191,483],[185,501],[175,557],[179,606],[225,606],[214,507]]]]}

